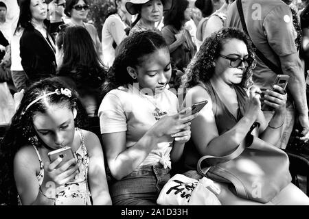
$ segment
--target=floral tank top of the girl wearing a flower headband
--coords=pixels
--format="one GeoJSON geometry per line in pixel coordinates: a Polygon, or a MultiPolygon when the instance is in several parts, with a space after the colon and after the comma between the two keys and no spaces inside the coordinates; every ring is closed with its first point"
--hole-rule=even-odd
{"type": "MultiPolygon", "coordinates": [[[[65,183],[56,189],[55,205],[91,205],[91,194],[88,186],[88,168],[89,168],[89,154],[84,144],[84,136],[80,129],[76,128],[81,139],[81,144],[78,150],[74,153],[78,162],[80,172],[75,179],[65,183]]],[[[38,183],[41,186],[44,179],[44,164],[41,159],[38,149],[34,146],[40,161],[40,172],[36,176],[38,183]]]]}

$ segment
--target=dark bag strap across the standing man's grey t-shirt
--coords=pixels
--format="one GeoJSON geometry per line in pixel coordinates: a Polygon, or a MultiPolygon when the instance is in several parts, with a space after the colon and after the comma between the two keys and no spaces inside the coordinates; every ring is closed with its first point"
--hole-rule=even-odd
{"type": "Polygon", "coordinates": [[[238,13],[239,13],[239,16],[240,16],[240,22],[242,23],[242,29],[244,30],[244,33],[246,33],[249,36],[249,38],[251,39],[252,46],[253,46],[253,48],[255,48],[255,54],[258,55],[260,60],[262,60],[262,62],[264,62],[264,64],[266,64],[266,66],[268,66],[268,68],[270,68],[274,73],[276,73],[277,75],[282,75],[283,74],[282,69],[279,68],[278,66],[276,66],[275,64],[273,64],[273,62],[269,61],[263,55],[263,53],[258,49],[258,47],[255,47],[255,44],[253,43],[252,38],[249,35],[246,22],[244,21],[244,12],[242,10],[242,0],[237,0],[236,4],[237,4],[237,8],[238,8],[238,13]]]}

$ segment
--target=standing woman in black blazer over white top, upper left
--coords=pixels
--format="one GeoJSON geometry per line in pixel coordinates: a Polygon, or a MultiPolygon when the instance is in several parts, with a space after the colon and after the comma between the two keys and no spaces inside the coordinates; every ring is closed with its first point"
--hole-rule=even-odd
{"type": "Polygon", "coordinates": [[[20,40],[21,65],[27,86],[56,74],[55,44],[49,35],[45,0],[21,0],[15,33],[24,29],[20,40]]]}

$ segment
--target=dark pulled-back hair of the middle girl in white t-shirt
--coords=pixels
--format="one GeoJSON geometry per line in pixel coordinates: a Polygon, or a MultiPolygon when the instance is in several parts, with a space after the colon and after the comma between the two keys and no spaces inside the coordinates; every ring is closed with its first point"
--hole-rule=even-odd
{"type": "Polygon", "coordinates": [[[102,96],[119,86],[126,87],[136,82],[136,79],[130,77],[126,68],[137,66],[142,57],[165,47],[168,49],[163,36],[155,31],[137,32],[122,40],[117,48],[113,66],[108,70],[106,82],[102,87],[102,96]]]}

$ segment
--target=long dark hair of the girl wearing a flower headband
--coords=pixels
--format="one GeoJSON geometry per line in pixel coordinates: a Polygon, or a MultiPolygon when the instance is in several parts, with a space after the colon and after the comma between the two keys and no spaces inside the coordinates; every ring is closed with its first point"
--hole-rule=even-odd
{"type": "MultiPolygon", "coordinates": [[[[60,81],[56,79],[43,79],[25,90],[21,104],[12,117],[10,127],[6,131],[0,145],[0,203],[7,205],[17,204],[17,191],[13,173],[13,161],[16,152],[22,146],[34,144],[34,142],[31,142],[31,138],[34,136],[38,138],[36,146],[45,145],[33,127],[34,114],[37,112],[45,113],[48,105],[53,104],[68,107],[71,110],[73,108],[78,110],[76,104],[78,94],[75,90],[71,90],[71,97],[64,94],[52,94],[27,108],[38,97],[61,88],[65,88],[65,85],[60,83],[60,81]]],[[[76,118],[75,123],[76,126],[79,125],[78,118],[76,118]]]]}

